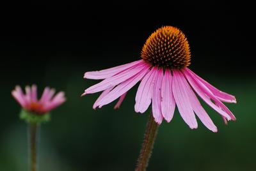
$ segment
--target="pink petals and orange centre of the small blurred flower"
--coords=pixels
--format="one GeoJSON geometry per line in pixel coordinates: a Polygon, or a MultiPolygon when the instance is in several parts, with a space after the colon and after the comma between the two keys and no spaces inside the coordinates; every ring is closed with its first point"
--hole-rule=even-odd
{"type": "Polygon", "coordinates": [[[20,86],[17,85],[12,91],[12,96],[20,103],[22,108],[39,115],[51,111],[66,101],[64,92],[61,91],[54,96],[55,90],[49,87],[45,87],[40,100],[37,98],[36,85],[26,86],[25,90],[26,93],[24,94],[20,86]]]}

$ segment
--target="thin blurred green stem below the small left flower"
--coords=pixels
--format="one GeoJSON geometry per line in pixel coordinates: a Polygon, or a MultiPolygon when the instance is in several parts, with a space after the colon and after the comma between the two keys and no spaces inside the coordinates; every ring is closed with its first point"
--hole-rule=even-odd
{"type": "Polygon", "coordinates": [[[29,157],[30,157],[30,170],[37,170],[37,145],[38,145],[38,123],[29,123],[29,157]]]}

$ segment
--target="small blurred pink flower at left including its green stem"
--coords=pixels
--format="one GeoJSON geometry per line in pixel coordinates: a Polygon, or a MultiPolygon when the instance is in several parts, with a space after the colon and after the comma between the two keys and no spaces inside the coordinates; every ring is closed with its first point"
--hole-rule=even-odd
{"type": "Polygon", "coordinates": [[[12,91],[12,96],[20,103],[22,110],[20,112],[20,119],[24,119],[28,123],[28,147],[29,147],[29,164],[30,170],[36,171],[37,165],[37,153],[39,135],[38,130],[41,123],[49,121],[49,112],[61,105],[66,101],[65,93],[62,91],[54,96],[55,90],[45,87],[44,93],[40,99],[37,98],[36,85],[31,87],[25,87],[26,93],[22,92],[19,85],[12,91]]]}

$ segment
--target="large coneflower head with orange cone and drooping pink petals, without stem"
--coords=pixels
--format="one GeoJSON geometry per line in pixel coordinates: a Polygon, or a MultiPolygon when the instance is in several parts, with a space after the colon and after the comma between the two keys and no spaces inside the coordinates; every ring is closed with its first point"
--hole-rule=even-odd
{"type": "Polygon", "coordinates": [[[147,39],[141,51],[141,60],[101,71],[84,73],[84,78],[100,80],[82,95],[103,91],[93,108],[102,107],[120,98],[138,82],[135,111],[143,113],[152,104],[156,123],[172,120],[175,106],[191,129],[197,128],[196,117],[211,131],[217,128],[200,104],[196,94],[218,112],[225,123],[236,117],[223,104],[236,103],[236,98],[224,93],[189,70],[191,54],[184,34],[172,26],[157,29],[147,39]],[[196,93],[196,94],[195,94],[196,93]]]}

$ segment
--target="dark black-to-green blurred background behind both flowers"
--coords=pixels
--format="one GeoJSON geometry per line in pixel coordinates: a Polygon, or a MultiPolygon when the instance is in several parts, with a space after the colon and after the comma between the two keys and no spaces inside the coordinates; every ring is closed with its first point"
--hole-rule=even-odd
{"type": "Polygon", "coordinates": [[[65,91],[40,135],[40,170],[134,170],[149,110],[134,112],[136,87],[122,107],[93,110],[99,94],[80,98],[95,80],[85,71],[140,59],[161,26],[188,37],[195,73],[236,95],[236,122],[207,112],[218,133],[200,121],[190,130],[177,109],[159,128],[148,170],[255,170],[256,71],[253,5],[246,1],[31,1],[1,5],[0,170],[28,170],[27,130],[10,92],[19,84],[65,91]]]}

